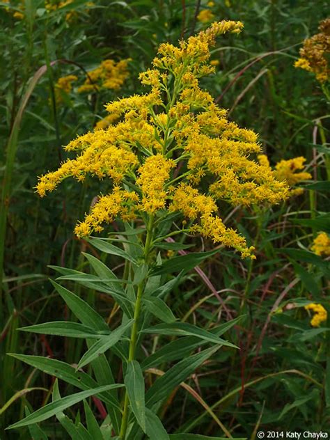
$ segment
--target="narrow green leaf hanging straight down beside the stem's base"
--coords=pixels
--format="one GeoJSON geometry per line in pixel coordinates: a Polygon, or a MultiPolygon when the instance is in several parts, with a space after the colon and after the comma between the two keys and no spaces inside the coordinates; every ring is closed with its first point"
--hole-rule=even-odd
{"type": "Polygon", "coordinates": [[[125,386],[132,411],[143,432],[146,432],[146,408],[144,400],[144,378],[139,362],[127,363],[125,386]]]}

